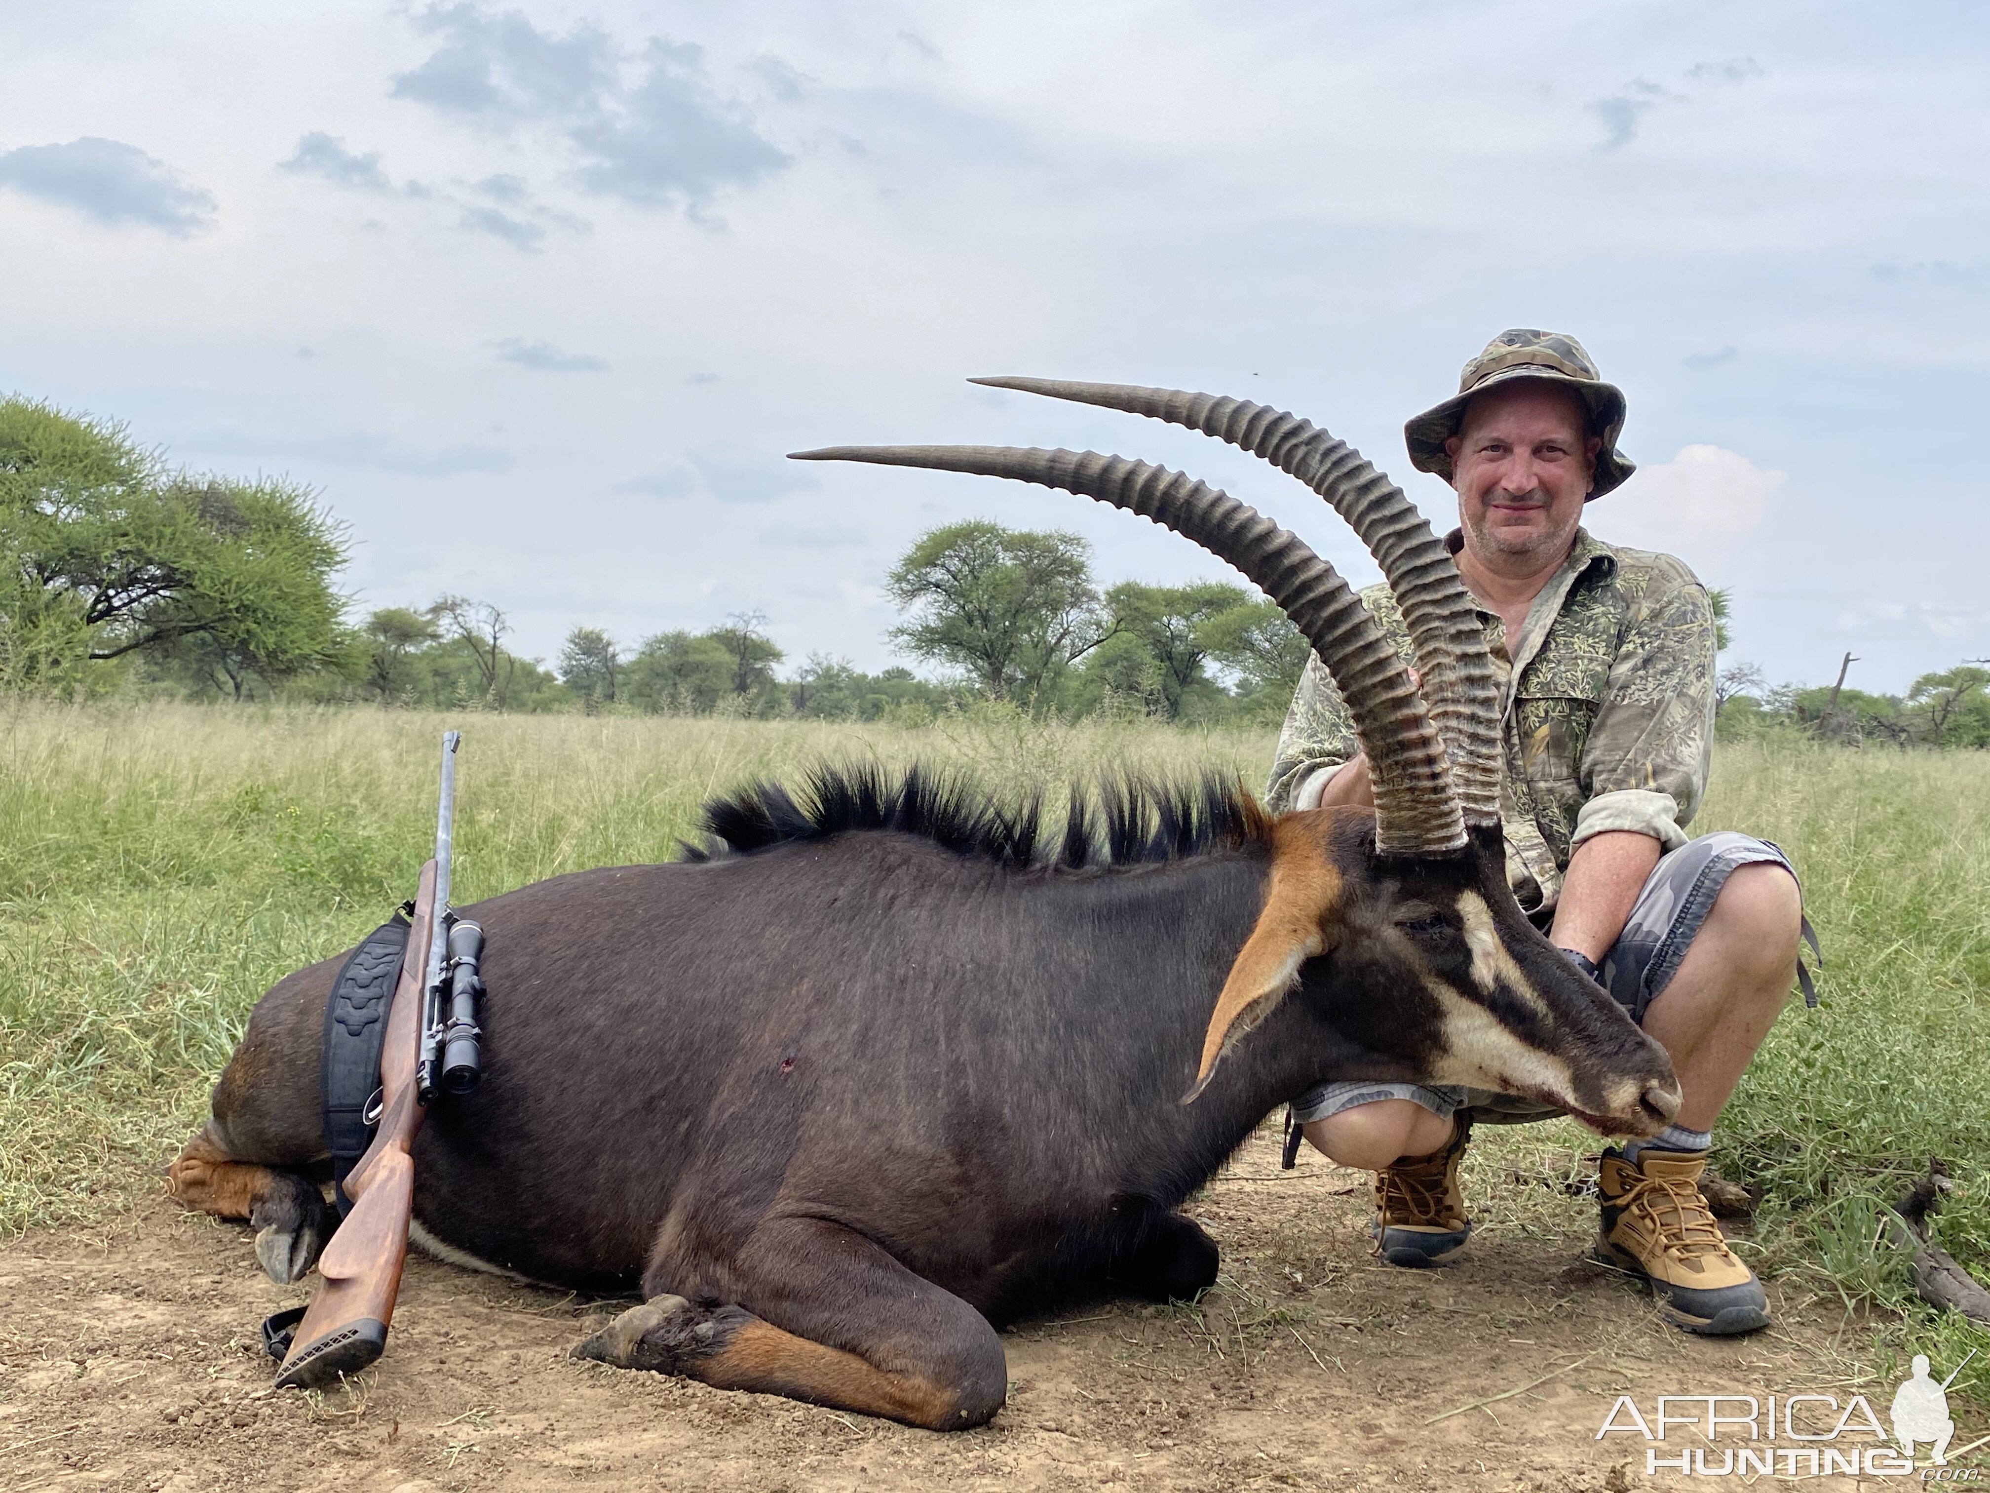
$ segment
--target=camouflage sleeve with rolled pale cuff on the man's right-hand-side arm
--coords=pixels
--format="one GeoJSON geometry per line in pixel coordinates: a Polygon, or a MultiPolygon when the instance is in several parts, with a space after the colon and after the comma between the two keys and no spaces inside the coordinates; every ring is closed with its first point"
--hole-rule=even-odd
{"type": "Polygon", "coordinates": [[[1602,707],[1582,748],[1582,810],[1570,850],[1608,830],[1650,834],[1664,850],[1686,844],[1686,826],[1707,788],[1713,754],[1713,607],[1674,561],[1630,623],[1602,707]]]}

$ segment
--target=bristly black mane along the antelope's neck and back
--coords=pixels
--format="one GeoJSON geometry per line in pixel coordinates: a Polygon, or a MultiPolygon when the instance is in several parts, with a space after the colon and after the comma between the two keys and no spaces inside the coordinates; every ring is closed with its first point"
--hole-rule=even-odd
{"type": "Polygon", "coordinates": [[[1132,774],[1104,778],[1093,794],[1073,794],[1055,850],[1037,790],[1003,804],[953,772],[911,766],[888,776],[874,764],[820,766],[804,784],[802,802],[778,782],[752,782],[712,798],[704,804],[704,830],[714,844],[687,844],[685,858],[750,856],[832,834],[888,830],[1003,866],[1083,870],[1180,860],[1270,834],[1258,802],[1216,774],[1170,784],[1132,774]]]}

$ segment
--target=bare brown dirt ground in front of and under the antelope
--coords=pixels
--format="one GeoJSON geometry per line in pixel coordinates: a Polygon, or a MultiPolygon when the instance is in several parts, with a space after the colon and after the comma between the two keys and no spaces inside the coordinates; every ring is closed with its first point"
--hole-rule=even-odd
{"type": "MultiPolygon", "coordinates": [[[[1311,1153],[1282,1174],[1262,1131],[1188,1208],[1224,1248],[1218,1290],[1011,1332],[1007,1409],[957,1435],[579,1364],[567,1348],[613,1304],[420,1258],[360,1384],[275,1393],[257,1324],[304,1294],[263,1278],[245,1226],[159,1198],[0,1248],[0,1487],[1626,1493],[1678,1473],[1648,1477],[1636,1435],[1596,1439],[1620,1393],[1650,1415],[1662,1393],[1859,1389],[1887,1413],[1841,1308],[1771,1284],[1773,1330],[1688,1338],[1584,1262],[1594,1202],[1475,1165],[1481,1236],[1407,1272],[1367,1252],[1363,1174],[1311,1153]]],[[[1958,1445],[1976,1419],[1958,1413],[1958,1445]]],[[[1664,1451],[1695,1445],[1674,1429],[1664,1451]]]]}

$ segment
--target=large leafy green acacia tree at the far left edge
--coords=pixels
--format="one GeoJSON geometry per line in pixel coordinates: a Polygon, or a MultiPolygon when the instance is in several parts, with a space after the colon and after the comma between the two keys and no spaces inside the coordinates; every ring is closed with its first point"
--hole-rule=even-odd
{"type": "Polygon", "coordinates": [[[145,653],[241,693],[328,663],[344,559],[297,484],[175,474],[121,424],[0,400],[0,639],[20,683],[145,653]]]}

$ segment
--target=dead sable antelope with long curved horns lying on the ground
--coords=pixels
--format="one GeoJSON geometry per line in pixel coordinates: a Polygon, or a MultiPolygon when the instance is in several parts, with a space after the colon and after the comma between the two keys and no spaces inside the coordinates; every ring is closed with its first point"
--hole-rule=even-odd
{"type": "MultiPolygon", "coordinates": [[[[1506,890],[1491,665],[1407,498],[1262,406],[1001,382],[1178,420],[1299,476],[1395,585],[1421,687],[1325,561],[1188,476],[1093,452],[804,456],[1021,478],[1208,547],[1331,669],[1375,810],[1274,820],[1222,784],[1120,784],[1102,814],[1075,804],[1053,848],[1033,808],[830,770],[800,806],[768,784],[710,804],[722,844],[689,862],[466,908],[488,940],[484,1085],[420,1135],[418,1242],[639,1284],[647,1302],[587,1358],[979,1425],[1005,1397],[1001,1324],[1216,1278],[1214,1242],[1174,1208],[1319,1079],[1534,1095],[1634,1135],[1678,1109],[1664,1051],[1506,890]]],[[[338,961],[263,997],[173,1165],[187,1206],[249,1218],[277,1280],[326,1234],[310,1167],[338,961]]]]}

